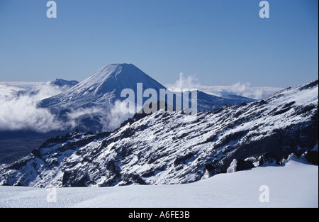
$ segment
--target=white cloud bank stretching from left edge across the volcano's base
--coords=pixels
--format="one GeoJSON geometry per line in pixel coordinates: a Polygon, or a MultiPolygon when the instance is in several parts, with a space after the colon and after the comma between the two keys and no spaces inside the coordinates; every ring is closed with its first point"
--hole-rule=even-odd
{"type": "Polygon", "coordinates": [[[47,133],[50,131],[69,131],[79,126],[82,117],[100,117],[103,131],[113,131],[123,121],[132,117],[130,113],[121,112],[121,102],[116,101],[105,109],[99,107],[70,109],[67,118],[63,120],[50,112],[49,109],[38,107],[38,102],[60,94],[61,88],[50,84],[5,84],[0,83],[0,131],[36,131],[47,133]]]}

